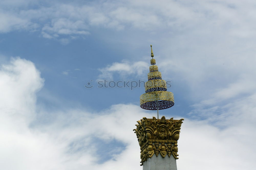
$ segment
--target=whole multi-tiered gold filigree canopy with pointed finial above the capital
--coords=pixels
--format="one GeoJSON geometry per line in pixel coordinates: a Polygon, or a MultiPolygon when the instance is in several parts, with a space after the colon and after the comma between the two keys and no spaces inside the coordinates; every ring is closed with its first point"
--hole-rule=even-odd
{"type": "Polygon", "coordinates": [[[166,82],[162,80],[161,72],[155,66],[156,60],[151,46],[151,65],[147,74],[148,82],[145,84],[145,92],[140,96],[140,106],[147,110],[167,109],[174,105],[173,93],[166,91],[166,82]]]}

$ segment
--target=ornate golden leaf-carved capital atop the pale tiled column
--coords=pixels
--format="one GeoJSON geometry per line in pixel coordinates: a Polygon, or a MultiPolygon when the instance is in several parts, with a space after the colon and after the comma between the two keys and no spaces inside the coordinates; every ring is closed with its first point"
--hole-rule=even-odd
{"type": "Polygon", "coordinates": [[[163,158],[167,154],[169,157],[173,155],[178,159],[177,140],[183,120],[165,119],[163,116],[161,119],[143,117],[137,121],[137,128],[133,130],[141,147],[141,166],[147,158],[151,158],[154,154],[158,156],[159,153],[163,158]]]}

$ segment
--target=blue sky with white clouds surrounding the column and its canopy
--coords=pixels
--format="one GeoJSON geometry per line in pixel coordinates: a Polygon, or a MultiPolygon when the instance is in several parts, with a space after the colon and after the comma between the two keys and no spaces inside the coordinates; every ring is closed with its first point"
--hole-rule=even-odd
{"type": "Polygon", "coordinates": [[[1,1],[0,166],[142,169],[132,129],[156,116],[139,107],[144,88],[96,86],[147,81],[152,44],[175,99],[160,116],[185,119],[178,168],[253,169],[255,6],[1,1]]]}

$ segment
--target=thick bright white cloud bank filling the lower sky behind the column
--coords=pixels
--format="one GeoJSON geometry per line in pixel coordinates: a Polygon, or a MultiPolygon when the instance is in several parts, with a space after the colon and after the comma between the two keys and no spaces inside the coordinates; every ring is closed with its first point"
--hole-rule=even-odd
{"type": "MultiPolygon", "coordinates": [[[[36,92],[44,81],[33,63],[13,59],[2,66],[0,77],[1,168],[142,168],[139,145],[132,129],[137,120],[152,114],[133,104],[113,105],[100,113],[77,108],[49,113],[36,105],[36,92]],[[126,147],[110,160],[98,164],[101,155],[97,155],[99,144],[94,137],[109,142],[115,139],[126,147]]],[[[228,103],[222,107],[225,112],[209,120],[185,118],[178,142],[178,168],[254,169],[255,99],[254,94],[246,100],[228,103]]]]}

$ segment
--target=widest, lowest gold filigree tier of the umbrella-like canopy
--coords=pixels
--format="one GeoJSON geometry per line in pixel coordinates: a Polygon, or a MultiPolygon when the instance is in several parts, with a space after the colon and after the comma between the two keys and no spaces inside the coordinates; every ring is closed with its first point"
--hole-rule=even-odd
{"type": "Polygon", "coordinates": [[[152,91],[140,96],[140,106],[147,110],[167,109],[174,105],[173,93],[169,91],[152,91]]]}

